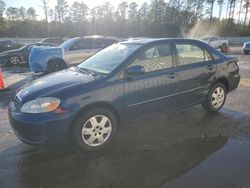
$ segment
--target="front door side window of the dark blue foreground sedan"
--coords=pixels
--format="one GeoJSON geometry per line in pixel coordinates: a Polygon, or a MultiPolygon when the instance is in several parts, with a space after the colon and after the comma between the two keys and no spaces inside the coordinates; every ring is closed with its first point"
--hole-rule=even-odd
{"type": "Polygon", "coordinates": [[[171,47],[169,44],[151,47],[139,54],[132,65],[144,66],[145,72],[171,68],[173,66],[171,47]]]}

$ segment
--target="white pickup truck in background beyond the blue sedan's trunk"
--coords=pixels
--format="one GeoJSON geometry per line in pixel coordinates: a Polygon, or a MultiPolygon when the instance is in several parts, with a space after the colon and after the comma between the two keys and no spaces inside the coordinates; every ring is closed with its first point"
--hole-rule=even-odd
{"type": "Polygon", "coordinates": [[[226,48],[229,47],[228,40],[220,39],[218,36],[202,37],[200,40],[209,44],[213,48],[220,49],[222,52],[226,52],[226,48]]]}

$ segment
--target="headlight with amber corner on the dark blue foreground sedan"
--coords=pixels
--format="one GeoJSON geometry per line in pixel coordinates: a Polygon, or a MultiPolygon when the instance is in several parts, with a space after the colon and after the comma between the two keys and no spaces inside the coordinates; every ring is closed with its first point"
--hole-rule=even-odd
{"type": "Polygon", "coordinates": [[[26,102],[22,106],[20,111],[23,113],[31,114],[51,112],[55,110],[59,106],[59,104],[60,99],[54,97],[37,98],[35,100],[26,102]]]}

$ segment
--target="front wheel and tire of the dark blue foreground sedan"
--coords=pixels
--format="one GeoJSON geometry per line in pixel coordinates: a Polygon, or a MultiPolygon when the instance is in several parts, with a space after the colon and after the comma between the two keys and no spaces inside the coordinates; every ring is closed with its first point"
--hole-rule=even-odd
{"type": "Polygon", "coordinates": [[[76,120],[72,136],[80,149],[96,151],[104,148],[112,140],[116,130],[117,120],[114,114],[105,108],[95,108],[84,112],[76,120]]]}

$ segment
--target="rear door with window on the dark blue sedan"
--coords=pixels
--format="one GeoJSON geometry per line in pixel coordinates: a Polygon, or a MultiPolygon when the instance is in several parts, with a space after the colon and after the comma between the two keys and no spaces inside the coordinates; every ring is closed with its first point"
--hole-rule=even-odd
{"type": "Polygon", "coordinates": [[[192,43],[176,43],[180,80],[178,89],[182,105],[201,102],[204,90],[216,72],[214,57],[203,47],[192,43]]]}

